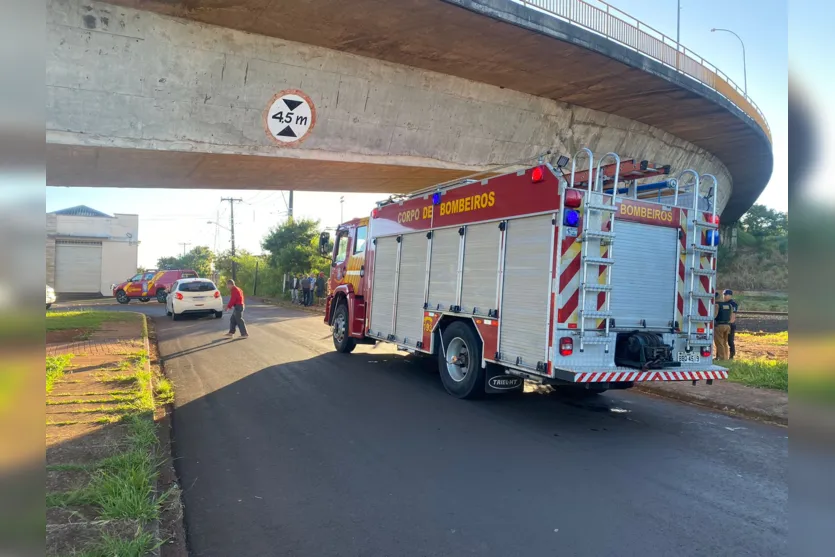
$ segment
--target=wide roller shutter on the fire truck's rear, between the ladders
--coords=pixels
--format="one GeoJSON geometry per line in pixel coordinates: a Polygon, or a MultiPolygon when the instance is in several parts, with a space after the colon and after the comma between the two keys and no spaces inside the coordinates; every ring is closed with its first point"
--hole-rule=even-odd
{"type": "Polygon", "coordinates": [[[621,220],[615,223],[609,309],[616,328],[643,328],[642,320],[649,329],[670,327],[677,244],[676,228],[621,220]]]}

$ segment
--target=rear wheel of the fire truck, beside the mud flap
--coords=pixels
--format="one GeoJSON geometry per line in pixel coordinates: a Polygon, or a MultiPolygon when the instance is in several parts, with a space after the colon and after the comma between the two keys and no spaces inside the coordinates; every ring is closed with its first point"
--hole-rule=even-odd
{"type": "Polygon", "coordinates": [[[455,321],[441,335],[438,347],[441,382],[456,398],[484,396],[484,368],[481,367],[481,343],[472,326],[455,321]]]}

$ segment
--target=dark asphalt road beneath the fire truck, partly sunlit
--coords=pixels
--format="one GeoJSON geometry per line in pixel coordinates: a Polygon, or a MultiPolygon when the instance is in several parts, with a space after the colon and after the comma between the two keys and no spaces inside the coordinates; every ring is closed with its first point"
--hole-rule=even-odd
{"type": "Polygon", "coordinates": [[[788,432],[640,393],[460,401],[319,317],[157,316],[195,556],[788,553],[788,432]]]}

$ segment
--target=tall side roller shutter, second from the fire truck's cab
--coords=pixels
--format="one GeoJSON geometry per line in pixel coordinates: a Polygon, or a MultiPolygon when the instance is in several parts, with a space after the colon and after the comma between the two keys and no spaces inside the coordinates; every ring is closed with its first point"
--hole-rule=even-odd
{"type": "Polygon", "coordinates": [[[423,338],[423,296],[426,286],[425,232],[400,239],[400,272],[394,334],[398,342],[415,346],[423,338]]]}

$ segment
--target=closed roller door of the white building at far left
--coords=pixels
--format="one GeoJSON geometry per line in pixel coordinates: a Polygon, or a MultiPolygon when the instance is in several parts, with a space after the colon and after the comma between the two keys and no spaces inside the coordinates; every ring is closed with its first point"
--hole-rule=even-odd
{"type": "Polygon", "coordinates": [[[101,292],[101,242],[55,242],[56,292],[101,292]]]}

